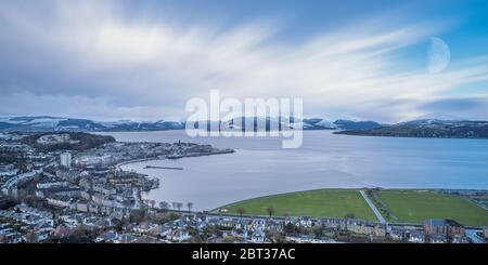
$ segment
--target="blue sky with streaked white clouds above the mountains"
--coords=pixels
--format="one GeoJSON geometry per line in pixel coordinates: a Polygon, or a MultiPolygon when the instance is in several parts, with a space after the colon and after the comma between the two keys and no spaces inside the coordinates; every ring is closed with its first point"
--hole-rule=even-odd
{"type": "Polygon", "coordinates": [[[307,117],[488,120],[487,10],[435,0],[0,0],[0,116],[179,120],[189,100],[218,90],[300,97],[307,117]]]}

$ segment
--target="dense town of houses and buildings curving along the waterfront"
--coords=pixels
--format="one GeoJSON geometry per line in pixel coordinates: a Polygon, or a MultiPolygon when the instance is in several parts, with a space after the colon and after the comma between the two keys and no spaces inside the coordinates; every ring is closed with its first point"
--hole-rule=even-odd
{"type": "Polygon", "coordinates": [[[147,159],[232,153],[192,143],[121,143],[86,133],[0,134],[0,242],[486,242],[453,220],[388,224],[344,217],[192,211],[144,199],[158,178],[120,169],[147,159]]]}

